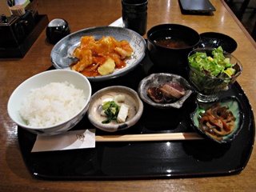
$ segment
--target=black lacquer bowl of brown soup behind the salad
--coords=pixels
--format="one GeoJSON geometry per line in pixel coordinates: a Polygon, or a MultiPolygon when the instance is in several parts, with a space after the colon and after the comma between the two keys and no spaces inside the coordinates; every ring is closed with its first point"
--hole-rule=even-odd
{"type": "Polygon", "coordinates": [[[146,36],[148,54],[154,66],[174,73],[186,70],[187,55],[200,42],[197,31],[178,24],[154,26],[146,36]]]}

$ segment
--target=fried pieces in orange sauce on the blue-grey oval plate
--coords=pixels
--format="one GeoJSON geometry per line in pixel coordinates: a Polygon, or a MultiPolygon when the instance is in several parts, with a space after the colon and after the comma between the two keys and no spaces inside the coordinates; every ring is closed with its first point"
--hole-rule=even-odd
{"type": "Polygon", "coordinates": [[[112,74],[114,69],[126,66],[124,60],[130,58],[133,52],[126,40],[118,42],[111,36],[95,40],[93,36],[84,36],[72,54],[79,61],[72,63],[70,69],[87,77],[112,74]]]}

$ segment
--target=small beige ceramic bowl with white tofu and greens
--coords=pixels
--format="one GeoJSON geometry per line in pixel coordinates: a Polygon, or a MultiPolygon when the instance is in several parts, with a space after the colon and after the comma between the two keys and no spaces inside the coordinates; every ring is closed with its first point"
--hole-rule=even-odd
{"type": "Polygon", "coordinates": [[[126,86],[109,86],[93,94],[87,114],[95,127],[114,132],[134,126],[142,112],[143,102],[136,91],[126,86]]]}

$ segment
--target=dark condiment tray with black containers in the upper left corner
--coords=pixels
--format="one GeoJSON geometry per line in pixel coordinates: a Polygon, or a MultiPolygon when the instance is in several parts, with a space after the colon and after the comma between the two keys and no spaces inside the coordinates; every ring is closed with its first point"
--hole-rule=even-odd
{"type": "Polygon", "coordinates": [[[0,21],[0,58],[23,58],[48,22],[47,15],[34,10],[0,21]]]}

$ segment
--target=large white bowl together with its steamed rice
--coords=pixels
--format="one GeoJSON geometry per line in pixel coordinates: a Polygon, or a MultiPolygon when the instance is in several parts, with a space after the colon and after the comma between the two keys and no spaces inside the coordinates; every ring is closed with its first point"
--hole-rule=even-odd
{"type": "Polygon", "coordinates": [[[49,70],[22,82],[11,94],[10,118],[34,134],[60,134],[86,114],[91,97],[88,79],[71,70],[49,70]]]}

